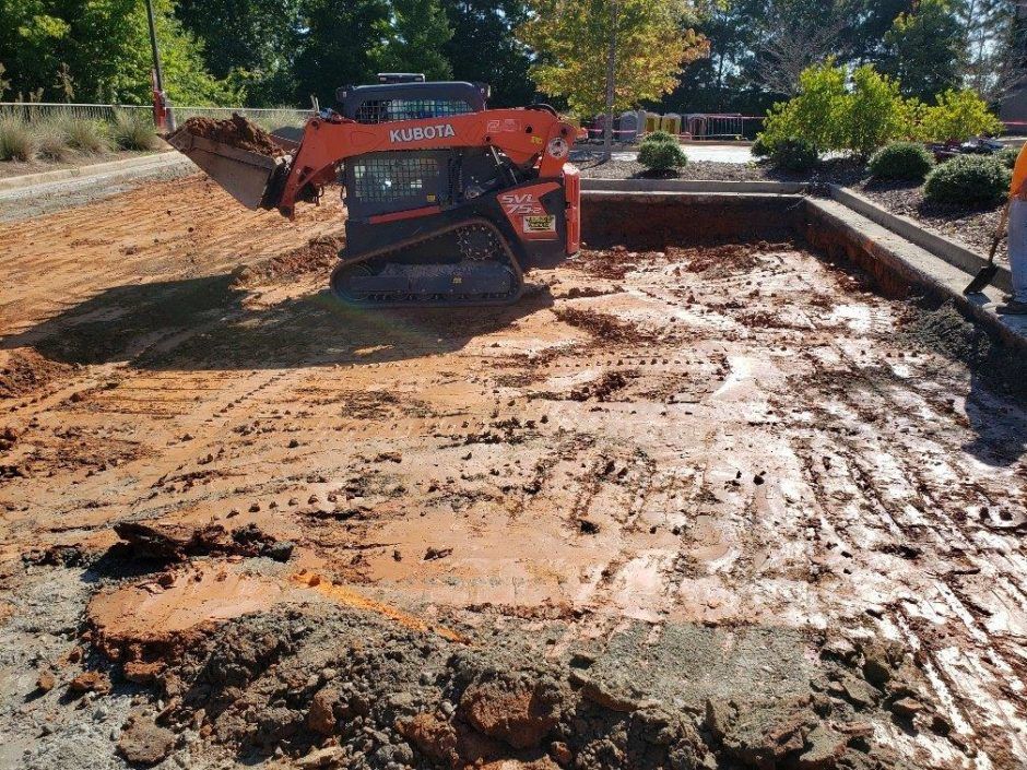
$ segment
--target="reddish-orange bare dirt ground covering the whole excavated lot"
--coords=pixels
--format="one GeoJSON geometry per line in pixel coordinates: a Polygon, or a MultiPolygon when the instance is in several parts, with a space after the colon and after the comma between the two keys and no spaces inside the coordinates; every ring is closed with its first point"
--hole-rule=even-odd
{"type": "Polygon", "coordinates": [[[1027,413],[958,317],[789,244],[356,311],[341,214],[2,225],[0,767],[1023,767],[1027,413]]]}

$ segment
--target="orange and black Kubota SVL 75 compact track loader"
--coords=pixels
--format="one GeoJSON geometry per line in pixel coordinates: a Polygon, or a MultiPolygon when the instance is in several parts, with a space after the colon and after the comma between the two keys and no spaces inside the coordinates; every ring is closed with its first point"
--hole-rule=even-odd
{"type": "Polygon", "coordinates": [[[341,181],[346,245],[331,287],[353,305],[514,303],[527,270],[577,252],[571,125],[548,106],[487,109],[480,84],[379,80],[340,88],[337,109],[295,141],[272,138],[272,153],[204,137],[193,121],[168,141],[245,205],[290,217],[341,181]]]}

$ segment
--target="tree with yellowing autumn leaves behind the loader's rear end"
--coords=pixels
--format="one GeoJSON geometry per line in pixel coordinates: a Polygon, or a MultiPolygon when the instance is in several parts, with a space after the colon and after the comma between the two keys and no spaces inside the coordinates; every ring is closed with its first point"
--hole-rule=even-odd
{"type": "Polygon", "coordinates": [[[696,22],[695,7],[685,0],[532,0],[520,36],[539,57],[531,69],[539,90],[566,98],[571,110],[587,117],[605,107],[611,33],[619,110],[670,93],[684,66],[709,52],[706,38],[690,26],[696,22]]]}

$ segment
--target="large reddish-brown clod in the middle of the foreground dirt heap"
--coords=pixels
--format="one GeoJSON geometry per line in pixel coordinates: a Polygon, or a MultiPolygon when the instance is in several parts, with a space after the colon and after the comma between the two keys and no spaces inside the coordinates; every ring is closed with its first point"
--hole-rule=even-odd
{"type": "Polygon", "coordinates": [[[489,676],[464,690],[460,714],[489,737],[534,748],[559,723],[560,699],[552,684],[489,676]]]}

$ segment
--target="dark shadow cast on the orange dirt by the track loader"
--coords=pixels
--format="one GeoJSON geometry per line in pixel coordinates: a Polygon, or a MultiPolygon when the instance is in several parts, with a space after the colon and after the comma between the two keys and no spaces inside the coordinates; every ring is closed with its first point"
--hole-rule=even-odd
{"type": "Polygon", "coordinates": [[[273,306],[246,303],[234,276],[213,275],[102,292],[36,327],[0,339],[64,364],[128,362],[149,369],[267,369],[403,360],[458,351],[553,304],[529,286],[516,305],[495,308],[357,309],[328,292],[273,306]]]}

